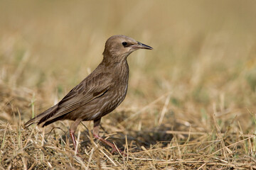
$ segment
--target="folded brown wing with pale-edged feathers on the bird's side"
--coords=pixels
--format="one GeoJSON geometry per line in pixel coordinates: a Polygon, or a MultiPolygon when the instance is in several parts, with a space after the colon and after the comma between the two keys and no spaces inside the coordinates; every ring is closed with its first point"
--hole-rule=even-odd
{"type": "Polygon", "coordinates": [[[105,94],[110,89],[112,81],[109,74],[110,73],[100,73],[95,77],[87,77],[88,79],[84,79],[58,103],[57,111],[53,113],[53,115],[48,116],[48,118],[42,119],[40,123],[70,113],[80,106],[105,94]]]}

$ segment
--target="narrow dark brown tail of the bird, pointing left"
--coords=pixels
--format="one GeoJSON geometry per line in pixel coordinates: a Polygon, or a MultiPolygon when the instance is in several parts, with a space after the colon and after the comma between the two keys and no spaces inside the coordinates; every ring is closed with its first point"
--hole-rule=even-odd
{"type": "Polygon", "coordinates": [[[55,106],[48,108],[46,111],[44,111],[43,113],[36,115],[35,118],[32,118],[31,120],[28,120],[28,122],[26,122],[24,124],[24,128],[28,128],[28,126],[33,125],[33,124],[41,124],[43,122],[45,122],[48,118],[50,118],[53,113],[55,113],[55,111],[58,108],[58,104],[56,104],[55,106]]]}

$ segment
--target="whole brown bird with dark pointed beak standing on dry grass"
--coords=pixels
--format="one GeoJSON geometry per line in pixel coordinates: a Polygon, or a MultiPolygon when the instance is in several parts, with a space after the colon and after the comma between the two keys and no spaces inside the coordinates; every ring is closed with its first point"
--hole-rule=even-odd
{"type": "Polygon", "coordinates": [[[73,120],[70,137],[76,147],[75,130],[79,123],[93,120],[92,134],[117,152],[117,148],[99,136],[102,116],[117,108],[127,94],[129,66],[127,57],[139,49],[152,50],[152,47],[124,35],[110,37],[103,52],[103,60],[84,80],[75,86],[59,103],[25,123],[29,125],[43,123],[43,127],[57,120],[73,120]]]}

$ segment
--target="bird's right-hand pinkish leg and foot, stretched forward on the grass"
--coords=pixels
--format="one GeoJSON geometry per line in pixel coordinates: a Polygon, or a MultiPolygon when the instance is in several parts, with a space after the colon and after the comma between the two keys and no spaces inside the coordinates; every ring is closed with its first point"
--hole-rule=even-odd
{"type": "MultiPolygon", "coordinates": [[[[116,147],[114,144],[112,144],[111,142],[108,142],[107,140],[103,139],[102,137],[100,137],[99,135],[99,131],[100,131],[100,119],[97,120],[93,120],[93,130],[92,130],[92,134],[95,138],[97,138],[98,140],[100,140],[101,142],[104,142],[105,144],[107,144],[108,146],[112,147],[112,152],[117,152],[117,153],[121,153],[124,154],[122,152],[121,149],[118,149],[118,147],[116,147]],[[119,151],[119,152],[118,152],[119,151]]],[[[125,155],[125,154],[124,154],[125,155]]]]}

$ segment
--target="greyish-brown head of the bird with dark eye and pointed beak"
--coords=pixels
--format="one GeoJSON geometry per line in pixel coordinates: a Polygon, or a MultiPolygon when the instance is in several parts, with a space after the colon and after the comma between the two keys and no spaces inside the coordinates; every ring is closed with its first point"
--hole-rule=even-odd
{"type": "Polygon", "coordinates": [[[107,40],[103,55],[105,58],[121,61],[126,59],[129,54],[139,49],[152,50],[153,48],[125,35],[113,35],[107,40]]]}

